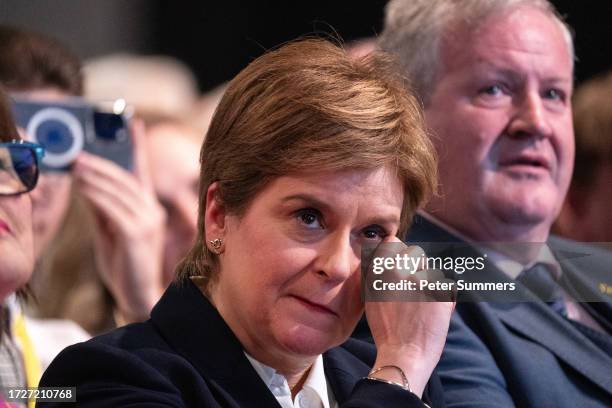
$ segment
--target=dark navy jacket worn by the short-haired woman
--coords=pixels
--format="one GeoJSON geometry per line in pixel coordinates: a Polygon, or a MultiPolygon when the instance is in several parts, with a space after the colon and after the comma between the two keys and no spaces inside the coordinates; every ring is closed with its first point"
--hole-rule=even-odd
{"type": "MultiPolygon", "coordinates": [[[[352,339],[324,353],[325,376],[340,406],[424,406],[400,387],[363,380],[374,359],[372,345],[352,339]]],[[[279,407],[191,282],[171,285],[150,320],[65,349],[41,386],[76,386],[77,404],[85,407],[279,407]]],[[[430,381],[424,400],[444,404],[439,380],[430,381]]],[[[55,405],[66,406],[40,404],[55,405]]]]}

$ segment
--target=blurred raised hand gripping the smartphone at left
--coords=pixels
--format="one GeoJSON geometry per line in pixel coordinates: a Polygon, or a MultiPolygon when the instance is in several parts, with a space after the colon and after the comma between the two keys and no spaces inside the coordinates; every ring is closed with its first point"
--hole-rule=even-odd
{"type": "Polygon", "coordinates": [[[96,218],[96,266],[112,293],[121,320],[149,316],[164,290],[162,257],[166,214],[149,175],[144,124],[130,125],[134,173],[88,153],[74,166],[78,188],[96,218]]]}

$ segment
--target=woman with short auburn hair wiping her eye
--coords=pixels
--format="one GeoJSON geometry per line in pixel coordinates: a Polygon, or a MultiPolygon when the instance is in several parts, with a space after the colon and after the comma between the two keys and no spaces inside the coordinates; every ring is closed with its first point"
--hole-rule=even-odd
{"type": "Polygon", "coordinates": [[[361,249],[399,242],[435,187],[419,104],[391,67],[311,39],[245,68],[201,150],[177,281],[150,320],[67,348],[41,384],[76,386],[83,407],[438,406],[452,302],[367,302],[377,351],[348,340],[361,249]]]}

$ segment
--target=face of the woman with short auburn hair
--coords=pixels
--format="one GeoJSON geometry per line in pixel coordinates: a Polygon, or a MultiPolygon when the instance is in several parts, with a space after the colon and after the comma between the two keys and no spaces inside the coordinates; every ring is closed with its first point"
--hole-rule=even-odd
{"type": "Polygon", "coordinates": [[[397,233],[402,202],[379,168],[279,177],[240,218],[207,205],[207,240],[225,245],[212,301],[245,349],[269,361],[344,342],[363,311],[361,247],[397,233]]]}

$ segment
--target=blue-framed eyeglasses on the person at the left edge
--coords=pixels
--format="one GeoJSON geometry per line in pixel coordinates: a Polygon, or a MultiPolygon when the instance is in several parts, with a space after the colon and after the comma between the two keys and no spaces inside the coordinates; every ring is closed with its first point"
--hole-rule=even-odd
{"type": "Polygon", "coordinates": [[[0,196],[27,193],[36,187],[38,164],[45,154],[36,143],[0,143],[0,196]]]}

